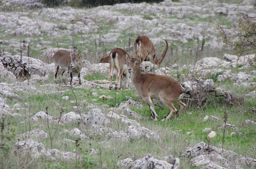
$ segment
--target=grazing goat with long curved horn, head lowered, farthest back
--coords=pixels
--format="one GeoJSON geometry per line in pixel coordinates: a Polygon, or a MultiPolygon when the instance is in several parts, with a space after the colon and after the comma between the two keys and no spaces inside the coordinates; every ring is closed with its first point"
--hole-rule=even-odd
{"type": "Polygon", "coordinates": [[[142,55],[144,56],[144,61],[150,61],[151,63],[160,67],[168,50],[168,43],[166,40],[165,42],[166,48],[164,49],[164,52],[158,60],[156,57],[156,50],[153,43],[148,39],[146,35],[140,35],[134,42],[135,55],[137,56],[137,54],[140,53],[140,57],[142,57],[142,55]]]}

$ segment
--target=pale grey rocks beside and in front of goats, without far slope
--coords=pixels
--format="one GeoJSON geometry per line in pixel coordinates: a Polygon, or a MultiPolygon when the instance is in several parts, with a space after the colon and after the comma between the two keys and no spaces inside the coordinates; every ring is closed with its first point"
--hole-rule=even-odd
{"type": "MultiPolygon", "coordinates": [[[[184,65],[183,67],[179,67],[178,65],[174,65],[174,67],[178,67],[180,71],[183,69],[189,69],[189,72],[197,72],[200,74],[200,79],[202,80],[204,77],[207,77],[206,75],[210,75],[212,73],[222,72],[222,75],[219,75],[217,77],[217,81],[226,81],[228,79],[232,79],[235,81],[233,84],[236,87],[244,86],[250,88],[251,86],[256,86],[256,83],[253,81],[253,77],[256,75],[256,71],[250,71],[250,73],[231,73],[230,70],[227,68],[229,67],[232,69],[232,67],[236,67],[236,64],[243,65],[240,69],[250,69],[250,65],[248,64],[248,58],[255,57],[254,55],[246,55],[242,57],[241,61],[237,62],[236,56],[234,55],[224,55],[223,59],[219,58],[204,58],[198,63],[196,63],[195,67],[186,67],[184,65]],[[221,67],[225,67],[225,69],[222,69],[221,67]]],[[[42,61],[38,59],[29,58],[26,56],[22,57],[22,63],[19,63],[20,56],[19,55],[4,55],[0,57],[0,72],[1,72],[1,81],[4,81],[8,79],[9,83],[0,83],[0,93],[1,93],[1,107],[0,107],[0,113],[13,116],[13,117],[22,117],[24,114],[14,113],[17,110],[23,109],[20,104],[15,104],[14,106],[9,106],[7,103],[8,99],[13,100],[20,100],[20,96],[18,96],[16,93],[22,91],[22,90],[34,90],[36,91],[34,94],[41,94],[42,91],[40,90],[40,87],[36,87],[35,84],[38,81],[41,82],[48,82],[48,79],[50,76],[53,76],[54,72],[54,64],[47,64],[43,63],[42,61]],[[22,69],[22,65],[24,66],[24,69],[22,69]],[[29,66],[28,66],[29,65],[29,66]],[[30,79],[25,81],[17,80],[17,77],[21,74],[21,71],[24,70],[24,72],[27,72],[30,74],[30,79]]],[[[109,64],[108,63],[98,63],[98,64],[90,64],[88,61],[83,60],[84,67],[82,69],[81,77],[84,77],[86,75],[90,75],[95,72],[99,72],[100,74],[104,76],[109,76],[109,64]]],[[[165,68],[157,68],[156,65],[153,65],[150,62],[143,62],[142,64],[142,71],[144,73],[153,72],[156,74],[169,74],[172,71],[175,71],[177,69],[171,69],[168,67],[165,68]]],[[[83,78],[82,79],[82,85],[78,85],[78,79],[74,77],[74,87],[77,88],[106,88],[108,90],[109,88],[109,82],[107,80],[98,80],[98,81],[86,81],[83,78]]],[[[204,80],[203,84],[205,86],[214,86],[213,80],[208,79],[204,80]]],[[[51,83],[48,84],[51,86],[49,89],[54,88],[54,86],[58,86],[57,84],[51,83]]],[[[192,91],[199,90],[198,86],[193,83],[192,81],[185,81],[182,83],[182,86],[184,88],[187,88],[192,91]]],[[[132,84],[130,83],[130,88],[133,88],[132,84]]],[[[216,88],[216,90],[219,90],[222,93],[228,93],[228,91],[224,91],[224,88],[216,88]]],[[[64,91],[56,91],[56,90],[48,90],[44,91],[45,93],[56,93],[60,92],[60,94],[64,94],[64,91]]],[[[98,96],[97,92],[92,93],[95,96],[98,96]]],[[[255,90],[252,90],[246,94],[248,97],[255,98],[256,93],[255,90]]],[[[100,97],[106,97],[106,96],[100,96],[100,97]]],[[[68,96],[63,96],[62,99],[68,100],[68,96]]],[[[228,98],[227,98],[228,99],[228,98]]],[[[87,100],[88,101],[88,100],[87,100]]],[[[72,130],[64,130],[60,134],[68,134],[70,136],[74,136],[76,138],[80,138],[82,140],[90,140],[93,136],[97,137],[106,137],[109,141],[111,140],[120,140],[124,142],[129,142],[130,140],[140,140],[142,138],[146,140],[151,141],[158,141],[159,140],[159,134],[158,132],[151,131],[148,128],[145,128],[141,126],[136,120],[143,119],[143,116],[140,116],[136,112],[130,110],[131,107],[139,108],[142,106],[140,102],[135,102],[134,100],[128,100],[124,103],[121,103],[118,108],[110,108],[110,112],[108,114],[104,114],[101,110],[101,107],[94,105],[94,104],[87,104],[86,100],[83,100],[81,102],[81,106],[85,105],[86,109],[89,110],[88,112],[82,112],[82,114],[77,114],[78,108],[76,106],[73,107],[74,112],[69,112],[64,115],[62,115],[61,118],[58,119],[56,116],[48,116],[45,112],[40,111],[34,116],[31,117],[32,121],[41,121],[41,120],[48,120],[50,124],[70,124],[71,122],[77,121],[77,120],[83,120],[84,124],[87,126],[90,126],[90,131],[85,132],[80,131],[78,128],[73,128],[72,130]],[[117,110],[121,111],[122,113],[120,115],[112,112],[116,112],[117,110]],[[135,120],[132,120],[132,119],[135,120]],[[110,122],[111,119],[119,120],[120,123],[129,124],[125,131],[114,131],[112,128],[107,127],[107,124],[110,122]]],[[[56,103],[58,104],[58,103],[56,103]]],[[[79,107],[81,110],[81,107],[79,107]]],[[[204,121],[207,120],[214,120],[219,121],[215,116],[206,116],[204,118],[204,121]]],[[[256,122],[254,120],[248,119],[246,121],[247,124],[253,124],[255,125],[256,122]]],[[[237,130],[236,126],[232,124],[226,124],[227,127],[233,128],[234,130],[237,130]]],[[[223,128],[223,125],[220,126],[220,129],[223,128]]],[[[211,131],[210,128],[206,128],[205,131],[211,131]]],[[[191,132],[188,132],[187,134],[191,134],[191,132]]],[[[243,135],[240,132],[233,132],[234,135],[243,135]]],[[[48,138],[48,134],[39,128],[36,130],[32,130],[30,132],[22,134],[21,138],[26,138],[30,135],[30,138],[48,138]]],[[[209,135],[210,137],[210,135],[209,135]]],[[[73,141],[68,140],[66,141],[73,141]]],[[[73,141],[74,142],[74,141],[73,141]]],[[[16,143],[17,149],[19,149],[20,152],[29,150],[29,154],[33,158],[38,157],[46,157],[47,159],[50,159],[52,161],[56,161],[57,159],[63,159],[63,160],[69,160],[70,157],[73,158],[79,158],[79,155],[75,152],[64,152],[60,151],[58,149],[46,149],[44,145],[40,142],[34,141],[32,139],[30,140],[24,140],[19,141],[16,143]],[[37,147],[40,146],[41,148],[38,149],[37,147]]],[[[98,153],[98,150],[91,149],[91,153],[98,153]]],[[[256,167],[256,159],[250,158],[250,157],[244,157],[242,155],[239,155],[233,151],[229,150],[222,150],[218,149],[212,145],[208,145],[204,142],[200,142],[194,147],[189,147],[185,152],[183,157],[190,158],[190,161],[195,166],[200,166],[204,168],[211,168],[211,169],[224,169],[224,168],[246,168],[246,167],[256,167]]],[[[172,155],[165,156],[162,159],[156,159],[152,157],[150,154],[145,156],[142,159],[136,159],[133,161],[130,158],[120,160],[117,165],[119,165],[121,168],[148,168],[148,166],[151,166],[154,164],[155,169],[168,169],[168,168],[176,168],[178,169],[180,166],[180,161],[178,157],[174,157],[172,155]]]]}

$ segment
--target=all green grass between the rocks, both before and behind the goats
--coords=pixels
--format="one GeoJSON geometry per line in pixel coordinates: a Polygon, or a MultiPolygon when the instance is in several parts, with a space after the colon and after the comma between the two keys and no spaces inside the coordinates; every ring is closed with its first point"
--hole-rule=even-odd
{"type": "MultiPolygon", "coordinates": [[[[220,2],[226,3],[234,3],[233,1],[224,1],[220,0],[220,2]]],[[[1,3],[1,2],[0,2],[1,3]]],[[[26,10],[24,10],[26,12],[26,10]]],[[[13,12],[13,9],[10,8],[6,11],[6,13],[13,12]]],[[[17,12],[17,10],[16,10],[17,12]]],[[[31,10],[27,15],[28,18],[33,18],[33,12],[37,12],[36,10],[31,10]]],[[[122,11],[118,11],[122,12],[122,11]]],[[[131,12],[124,11],[125,14],[130,15],[131,12]]],[[[133,13],[134,15],[136,12],[133,13]]],[[[152,20],[150,14],[145,14],[144,19],[152,20]]],[[[156,17],[156,16],[154,16],[156,17]]],[[[77,20],[79,21],[79,16],[77,16],[77,20]],[[78,18],[78,19],[77,19],[78,18]]],[[[171,16],[170,18],[166,19],[175,19],[176,16],[171,16]]],[[[159,19],[159,18],[158,18],[159,19]]],[[[185,16],[183,19],[184,22],[187,20],[192,22],[208,22],[208,18],[205,19],[197,19],[191,18],[189,16],[185,16]]],[[[218,20],[218,19],[217,19],[218,20]]],[[[180,20],[182,21],[182,20],[180,20]]],[[[179,22],[180,22],[179,21],[179,22]]],[[[218,20],[219,21],[219,20],[218,20]]],[[[56,21],[57,22],[57,21],[56,21]]],[[[60,21],[58,21],[60,22],[60,21]]],[[[178,21],[177,21],[178,22],[178,21]]],[[[113,47],[126,47],[128,49],[128,39],[130,37],[131,44],[136,39],[137,35],[133,33],[127,32],[124,30],[121,34],[122,36],[118,41],[111,44],[101,44],[95,45],[96,41],[100,41],[100,38],[95,39],[95,37],[100,37],[96,35],[103,35],[110,31],[110,29],[115,29],[115,22],[106,22],[105,20],[102,23],[96,23],[99,26],[99,31],[97,33],[89,33],[89,34],[78,34],[74,35],[74,39],[76,42],[76,46],[79,50],[88,51],[86,54],[86,59],[90,60],[92,63],[96,62],[101,58],[108,54],[113,47]],[[102,24],[103,23],[103,24],[102,24]],[[95,35],[96,34],[96,35],[95,35]]],[[[164,23],[164,21],[163,21],[164,23]]],[[[71,23],[70,23],[71,24],[71,23]]],[[[230,25],[229,21],[226,24],[230,25]]],[[[192,25],[191,25],[192,26],[192,25]]],[[[146,29],[142,25],[138,25],[142,29],[146,29]]],[[[67,28],[64,26],[59,26],[58,29],[60,31],[66,30],[67,28]]],[[[20,40],[24,40],[27,37],[20,36],[20,35],[13,35],[7,36],[5,31],[0,31],[0,35],[5,38],[5,40],[13,40],[19,42],[20,40]]],[[[42,56],[42,51],[46,50],[47,48],[52,47],[64,47],[69,48],[72,44],[71,42],[71,35],[66,35],[61,37],[60,39],[54,39],[51,35],[47,35],[47,32],[42,32],[41,39],[38,37],[32,36],[31,39],[34,40],[34,44],[30,46],[30,55],[34,58],[40,58],[42,61],[46,63],[52,63],[48,57],[44,58],[42,56]],[[42,43],[42,41],[49,41],[50,45],[42,45],[41,48],[36,47],[37,44],[42,43]]],[[[155,37],[150,37],[155,38],[155,37]]],[[[206,38],[206,42],[208,39],[206,38]]],[[[4,44],[2,44],[3,48],[5,49],[4,44]]],[[[170,43],[168,48],[168,53],[166,55],[165,60],[162,63],[164,65],[172,65],[174,63],[178,63],[180,65],[188,65],[193,64],[196,61],[202,59],[202,57],[222,57],[224,53],[227,51],[212,51],[211,49],[204,48],[204,51],[197,53],[197,47],[201,49],[202,40],[198,41],[196,37],[193,40],[189,40],[188,43],[183,44],[182,42],[175,42],[170,43]]],[[[6,46],[7,47],[7,46],[6,46]]],[[[164,50],[165,43],[164,41],[160,43],[160,45],[156,45],[156,52],[157,56],[160,57],[162,51],[164,50]]],[[[8,51],[10,53],[16,54],[19,53],[19,50],[10,49],[8,51]]],[[[23,49],[24,55],[26,55],[26,49],[23,49]]],[[[128,51],[128,53],[132,53],[132,49],[128,51]]],[[[248,70],[240,70],[240,71],[252,71],[255,70],[256,67],[250,68],[248,70]]],[[[232,72],[237,72],[237,69],[232,69],[232,72]]],[[[172,77],[180,77],[182,74],[186,74],[187,72],[179,72],[174,73],[172,77]],[[178,74],[178,75],[177,75],[178,74]]],[[[209,78],[214,79],[216,82],[217,75],[211,75],[209,78]]],[[[87,81],[92,81],[96,79],[106,79],[106,77],[102,77],[99,74],[90,75],[84,77],[87,81]]],[[[107,79],[108,80],[108,79],[107,79]]],[[[178,81],[182,82],[182,78],[177,79],[178,81]]],[[[19,79],[22,81],[22,79],[19,79]]],[[[0,81],[10,83],[8,81],[0,81]]],[[[256,79],[254,78],[254,82],[256,79]]],[[[238,154],[245,155],[247,157],[256,158],[256,125],[253,124],[246,124],[244,121],[246,119],[254,120],[256,119],[256,114],[251,110],[251,108],[256,109],[256,101],[251,97],[245,97],[244,94],[248,93],[248,91],[255,90],[255,87],[252,86],[251,88],[236,88],[232,84],[234,81],[224,81],[221,83],[216,82],[216,86],[223,86],[226,90],[231,90],[235,94],[238,95],[239,98],[242,98],[242,101],[235,102],[234,106],[228,105],[223,98],[218,98],[214,94],[208,95],[208,102],[205,104],[192,104],[188,102],[188,100],[184,99],[183,101],[188,105],[186,110],[182,112],[180,116],[174,116],[170,118],[167,122],[154,122],[150,119],[150,111],[149,108],[140,97],[136,94],[134,88],[130,88],[129,90],[122,90],[122,91],[109,91],[106,88],[92,88],[92,89],[84,89],[84,88],[73,88],[74,94],[70,88],[70,86],[63,86],[61,85],[54,85],[54,76],[53,73],[50,75],[50,79],[44,83],[37,82],[35,84],[37,90],[44,91],[64,91],[65,96],[69,96],[69,100],[63,100],[61,94],[38,94],[33,95],[36,90],[27,90],[26,88],[22,88],[24,91],[20,91],[17,94],[21,97],[20,100],[8,100],[7,104],[9,106],[14,106],[16,103],[20,103],[22,108],[26,107],[26,110],[20,109],[15,110],[16,113],[20,113],[26,115],[26,117],[12,117],[10,115],[6,115],[1,118],[1,132],[0,132],[0,139],[4,142],[4,145],[0,146],[0,161],[3,164],[2,168],[47,168],[47,169],[68,169],[68,168],[82,168],[80,165],[89,165],[91,168],[104,168],[104,169],[113,169],[118,168],[116,167],[116,163],[119,160],[125,159],[127,157],[132,158],[133,160],[144,157],[148,153],[150,153],[155,158],[161,159],[163,156],[167,155],[175,155],[176,157],[180,157],[186,147],[193,146],[194,144],[198,143],[199,141],[205,141],[211,145],[214,145],[218,148],[222,147],[223,144],[223,131],[218,130],[220,124],[224,123],[224,112],[226,111],[228,116],[228,123],[234,124],[238,128],[238,132],[244,133],[243,136],[230,136],[233,130],[227,129],[225,132],[225,139],[224,139],[224,149],[232,150],[238,154]],[[97,92],[98,96],[106,95],[111,96],[106,100],[100,99],[98,96],[93,96],[92,92],[97,92]],[[128,97],[126,97],[128,96],[128,97]],[[108,138],[105,137],[92,137],[90,140],[78,140],[78,143],[70,143],[64,141],[64,138],[77,140],[67,134],[59,134],[64,130],[72,130],[73,128],[79,128],[86,136],[90,134],[90,128],[84,126],[81,122],[68,124],[68,125],[57,125],[57,124],[50,124],[49,128],[47,125],[47,121],[40,120],[39,122],[33,122],[29,120],[29,117],[33,116],[39,111],[47,112],[50,116],[55,116],[57,118],[60,117],[60,114],[66,114],[73,110],[73,106],[76,104],[70,103],[71,100],[76,100],[79,106],[81,101],[86,100],[89,103],[96,104],[100,106],[103,110],[104,114],[109,112],[108,108],[110,107],[118,107],[121,102],[125,102],[131,98],[132,100],[139,101],[143,104],[142,108],[131,108],[133,111],[137,112],[138,114],[144,116],[146,119],[144,120],[137,120],[141,126],[144,126],[152,131],[156,131],[160,139],[157,142],[148,141],[145,139],[141,140],[132,140],[128,143],[124,143],[122,141],[112,141],[107,142],[108,138]],[[96,101],[92,101],[96,99],[96,101]],[[58,102],[60,106],[56,105],[55,103],[58,102]],[[27,104],[25,104],[27,103],[27,104]],[[107,106],[105,106],[107,105],[107,106]],[[189,113],[189,114],[188,114],[189,113]],[[190,114],[191,113],[191,114],[190,114]],[[216,116],[220,118],[220,121],[213,122],[213,121],[206,121],[203,122],[204,117],[208,115],[216,116]],[[24,122],[26,120],[26,122],[24,122]],[[60,151],[71,151],[74,152],[78,151],[78,154],[83,157],[81,164],[79,164],[76,159],[72,161],[62,161],[57,159],[56,163],[52,163],[51,161],[47,161],[45,158],[40,159],[30,159],[28,155],[22,155],[15,151],[15,143],[20,140],[19,135],[28,132],[29,130],[34,130],[40,128],[41,130],[47,132],[49,134],[49,130],[51,133],[51,138],[36,138],[35,141],[42,142],[47,149],[56,148],[60,151]],[[207,139],[206,136],[209,132],[202,132],[204,128],[212,128],[212,131],[216,131],[217,136],[212,139],[207,139]],[[176,134],[174,134],[175,132],[176,134]],[[190,134],[187,134],[191,132],[190,134]],[[51,144],[52,139],[52,144],[51,144]],[[98,155],[92,155],[88,153],[88,150],[94,148],[98,149],[100,153],[98,155]]],[[[163,118],[168,113],[168,109],[162,105],[160,102],[155,102],[155,110],[158,116],[163,118]]],[[[176,106],[176,105],[174,105],[176,106]]],[[[178,109],[178,107],[176,106],[178,109]]],[[[88,112],[86,110],[86,106],[82,106],[82,112],[85,114],[88,112]]],[[[14,112],[13,112],[14,113],[14,112]]],[[[116,112],[120,114],[121,112],[116,112]]],[[[107,127],[110,127],[116,131],[125,131],[128,124],[122,124],[118,121],[112,120],[107,127]]],[[[188,169],[188,168],[196,168],[192,167],[189,162],[189,159],[180,157],[180,168],[181,169],[188,169]]]]}

